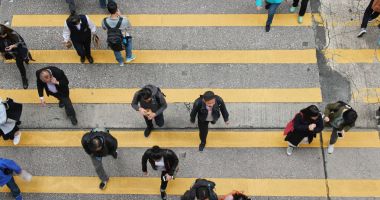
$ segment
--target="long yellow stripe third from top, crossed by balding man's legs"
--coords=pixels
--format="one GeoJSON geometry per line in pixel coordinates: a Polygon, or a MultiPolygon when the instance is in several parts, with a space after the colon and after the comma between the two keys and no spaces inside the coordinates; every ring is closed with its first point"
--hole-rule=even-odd
{"type": "MultiPolygon", "coordinates": [[[[138,89],[107,88],[70,90],[73,103],[107,103],[120,104],[131,103],[134,93],[138,89]]],[[[207,90],[212,90],[228,103],[302,103],[322,102],[320,88],[293,88],[293,89],[162,89],[168,103],[193,102],[199,95],[207,90]]],[[[38,93],[35,89],[0,89],[0,97],[11,97],[20,103],[39,103],[38,93]]],[[[53,97],[46,98],[48,103],[56,103],[53,97]]]]}

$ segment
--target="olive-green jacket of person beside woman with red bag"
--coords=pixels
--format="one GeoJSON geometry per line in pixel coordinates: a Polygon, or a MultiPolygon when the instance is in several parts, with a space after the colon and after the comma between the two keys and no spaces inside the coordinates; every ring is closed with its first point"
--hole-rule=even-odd
{"type": "Polygon", "coordinates": [[[344,111],[348,110],[347,106],[342,105],[339,102],[336,103],[330,103],[327,104],[325,108],[325,116],[330,118],[329,122],[325,122],[327,126],[332,126],[334,128],[337,128],[338,130],[344,130],[345,132],[349,131],[351,128],[355,126],[355,123],[353,124],[341,124],[338,127],[334,126],[334,120],[337,120],[338,118],[343,118],[344,111]]]}

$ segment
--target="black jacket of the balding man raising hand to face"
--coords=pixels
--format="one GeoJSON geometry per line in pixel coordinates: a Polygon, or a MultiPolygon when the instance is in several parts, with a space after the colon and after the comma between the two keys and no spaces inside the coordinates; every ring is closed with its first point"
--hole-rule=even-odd
{"type": "Polygon", "coordinates": [[[49,69],[51,71],[52,75],[59,82],[59,85],[56,85],[57,91],[58,91],[57,95],[68,97],[69,96],[69,80],[67,79],[65,73],[61,69],[59,69],[57,67],[53,67],[53,66],[42,68],[36,72],[38,95],[40,97],[43,97],[44,96],[44,89],[45,89],[46,94],[48,96],[52,95],[52,93],[48,90],[47,84],[42,82],[40,79],[40,74],[41,74],[42,70],[45,70],[45,69],[49,69]]]}

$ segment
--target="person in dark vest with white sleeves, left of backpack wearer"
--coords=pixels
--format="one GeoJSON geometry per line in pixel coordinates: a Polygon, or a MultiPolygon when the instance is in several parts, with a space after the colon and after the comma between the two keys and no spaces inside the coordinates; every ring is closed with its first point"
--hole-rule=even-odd
{"type": "Polygon", "coordinates": [[[80,56],[80,62],[84,63],[85,58],[89,63],[94,63],[91,56],[91,34],[96,35],[96,26],[87,15],[70,15],[64,24],[63,42],[67,48],[74,46],[80,56]]]}

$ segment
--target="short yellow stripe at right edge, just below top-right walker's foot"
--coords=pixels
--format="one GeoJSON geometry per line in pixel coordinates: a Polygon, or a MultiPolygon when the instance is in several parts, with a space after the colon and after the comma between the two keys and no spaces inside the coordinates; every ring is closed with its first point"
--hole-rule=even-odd
{"type": "Polygon", "coordinates": [[[374,63],[380,59],[376,49],[329,49],[325,55],[335,63],[374,63]]]}

